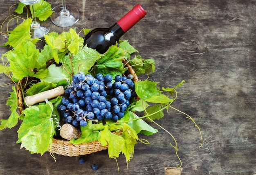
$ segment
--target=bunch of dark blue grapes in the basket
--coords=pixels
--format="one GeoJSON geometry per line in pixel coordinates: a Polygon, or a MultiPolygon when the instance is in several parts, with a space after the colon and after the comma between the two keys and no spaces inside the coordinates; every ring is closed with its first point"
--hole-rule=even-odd
{"type": "Polygon", "coordinates": [[[88,120],[121,119],[135,96],[132,78],[131,74],[115,79],[109,74],[75,74],[58,106],[64,123],[78,127],[86,126],[88,120]]]}

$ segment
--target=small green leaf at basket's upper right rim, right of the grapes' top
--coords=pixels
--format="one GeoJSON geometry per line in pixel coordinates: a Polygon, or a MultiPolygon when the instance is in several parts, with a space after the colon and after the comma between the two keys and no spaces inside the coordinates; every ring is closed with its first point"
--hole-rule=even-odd
{"type": "Polygon", "coordinates": [[[129,60],[129,64],[137,75],[144,73],[153,73],[155,71],[155,61],[153,59],[142,59],[141,56],[136,55],[129,60]]]}

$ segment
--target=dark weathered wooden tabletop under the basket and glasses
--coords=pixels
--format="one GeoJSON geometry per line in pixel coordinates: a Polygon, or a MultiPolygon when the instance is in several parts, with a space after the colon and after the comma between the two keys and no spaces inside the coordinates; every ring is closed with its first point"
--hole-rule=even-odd
{"type": "MultiPolygon", "coordinates": [[[[47,0],[52,7],[61,0],[47,0]]],[[[202,130],[203,145],[193,122],[184,114],[169,110],[157,121],[177,139],[182,175],[256,174],[256,7],[255,0],[67,0],[76,5],[82,28],[109,27],[137,3],[147,15],[121,39],[128,39],[142,58],[154,58],[155,73],[150,80],[160,87],[179,88],[184,95],[173,107],[195,119],[202,130]]],[[[0,22],[13,13],[18,0],[1,3],[0,22]]],[[[68,31],[52,24],[51,31],[68,31]]],[[[0,45],[7,41],[0,36],[0,45]]],[[[0,54],[8,47],[0,47],[0,54]]],[[[146,76],[140,76],[145,79],[146,76]]],[[[1,84],[9,79],[0,74],[1,84]]],[[[0,119],[7,119],[6,101],[11,85],[0,87],[0,119]]],[[[18,123],[20,125],[20,123],[18,123]]],[[[153,123],[150,125],[155,126],[153,123]]],[[[149,145],[135,145],[134,156],[126,166],[123,155],[117,159],[121,175],[164,175],[179,161],[170,146],[171,137],[162,129],[153,136],[139,135],[149,145]]],[[[107,150],[79,157],[30,154],[17,141],[18,126],[0,131],[1,175],[118,174],[115,159],[107,150]],[[92,164],[99,164],[92,171],[92,164]]]]}

